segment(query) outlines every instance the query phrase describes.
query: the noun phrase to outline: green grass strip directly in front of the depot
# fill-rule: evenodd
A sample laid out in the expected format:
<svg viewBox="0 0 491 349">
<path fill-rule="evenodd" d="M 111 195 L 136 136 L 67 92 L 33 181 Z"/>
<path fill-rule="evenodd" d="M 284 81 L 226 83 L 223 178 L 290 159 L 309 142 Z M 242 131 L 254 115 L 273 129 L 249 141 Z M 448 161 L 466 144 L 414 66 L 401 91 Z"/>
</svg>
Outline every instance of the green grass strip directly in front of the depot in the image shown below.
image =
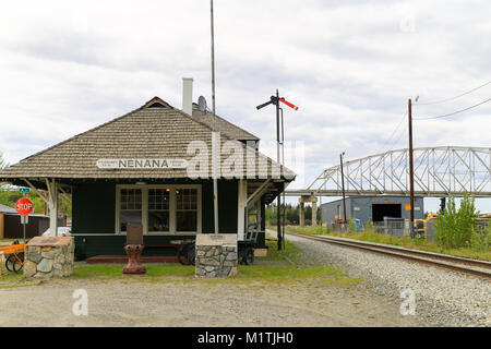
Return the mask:
<svg viewBox="0 0 491 349">
<path fill-rule="evenodd" d="M 268 239 L 266 257 L 256 257 L 254 265 L 239 265 L 239 273 L 230 278 L 203 279 L 194 277 L 194 266 L 180 264 L 147 264 L 146 275 L 122 275 L 122 265 L 75 265 L 70 279 L 128 280 L 148 282 L 197 282 L 197 284 L 228 284 L 239 282 L 260 288 L 279 287 L 280 285 L 351 285 L 361 279 L 348 278 L 338 269 L 313 262 L 302 250 L 286 241 L 286 249 L 277 251 L 277 241 Z M 22 274 L 10 273 L 0 276 L 0 288 L 27 286 L 27 279 Z"/>
</svg>

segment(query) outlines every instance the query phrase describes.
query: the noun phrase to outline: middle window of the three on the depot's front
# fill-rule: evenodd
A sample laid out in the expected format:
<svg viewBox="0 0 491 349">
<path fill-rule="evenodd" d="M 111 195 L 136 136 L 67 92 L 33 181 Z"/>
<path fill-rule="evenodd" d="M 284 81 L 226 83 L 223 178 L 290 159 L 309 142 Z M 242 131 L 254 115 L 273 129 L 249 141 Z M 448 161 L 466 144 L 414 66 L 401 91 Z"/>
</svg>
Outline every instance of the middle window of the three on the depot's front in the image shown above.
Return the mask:
<svg viewBox="0 0 491 349">
<path fill-rule="evenodd" d="M 169 231 L 170 189 L 148 189 L 148 231 Z"/>
</svg>

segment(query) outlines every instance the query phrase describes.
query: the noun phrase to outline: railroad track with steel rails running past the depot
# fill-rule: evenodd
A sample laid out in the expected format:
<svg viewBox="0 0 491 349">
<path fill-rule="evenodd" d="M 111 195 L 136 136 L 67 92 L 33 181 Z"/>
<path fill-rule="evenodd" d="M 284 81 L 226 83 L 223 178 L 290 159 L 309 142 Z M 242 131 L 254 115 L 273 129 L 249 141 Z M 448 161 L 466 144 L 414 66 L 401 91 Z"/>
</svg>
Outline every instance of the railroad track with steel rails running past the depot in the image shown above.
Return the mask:
<svg viewBox="0 0 491 349">
<path fill-rule="evenodd" d="M 475 276 L 491 279 L 491 262 L 457 257 L 441 253 L 427 252 L 420 250 L 405 249 L 395 245 L 387 245 L 375 242 L 367 242 L 360 240 L 351 240 L 345 238 L 325 237 L 325 236 L 311 236 L 304 233 L 298 233 L 292 231 L 285 231 L 287 234 L 321 241 L 325 243 L 333 243 L 347 248 L 354 248 L 363 250 L 367 252 L 380 253 L 390 255 L 393 257 L 399 257 L 409 260 L 412 262 L 427 263 L 434 266 L 452 269 L 465 274 L 471 274 Z"/>
</svg>

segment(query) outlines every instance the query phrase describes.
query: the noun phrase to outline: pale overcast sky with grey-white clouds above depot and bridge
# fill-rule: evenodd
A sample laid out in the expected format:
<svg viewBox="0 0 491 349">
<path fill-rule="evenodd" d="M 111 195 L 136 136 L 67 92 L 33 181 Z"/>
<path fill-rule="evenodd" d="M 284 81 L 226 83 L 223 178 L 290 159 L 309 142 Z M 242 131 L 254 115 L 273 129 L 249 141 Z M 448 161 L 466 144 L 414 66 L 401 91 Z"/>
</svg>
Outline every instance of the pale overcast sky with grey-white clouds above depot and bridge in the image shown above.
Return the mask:
<svg viewBox="0 0 491 349">
<path fill-rule="evenodd" d="M 255 106 L 279 88 L 300 107 L 285 109 L 286 139 L 304 146 L 295 186 L 306 186 L 342 152 L 406 147 L 408 98 L 440 100 L 490 81 L 489 13 L 484 0 L 215 0 L 217 113 L 267 146 L 274 109 Z M 194 77 L 195 99 L 211 101 L 207 0 L 2 3 L 0 152 L 16 163 L 156 95 L 180 107 L 183 76 Z M 414 115 L 489 97 L 491 84 Z M 490 112 L 491 103 L 415 121 L 415 147 L 489 147 Z"/>
</svg>

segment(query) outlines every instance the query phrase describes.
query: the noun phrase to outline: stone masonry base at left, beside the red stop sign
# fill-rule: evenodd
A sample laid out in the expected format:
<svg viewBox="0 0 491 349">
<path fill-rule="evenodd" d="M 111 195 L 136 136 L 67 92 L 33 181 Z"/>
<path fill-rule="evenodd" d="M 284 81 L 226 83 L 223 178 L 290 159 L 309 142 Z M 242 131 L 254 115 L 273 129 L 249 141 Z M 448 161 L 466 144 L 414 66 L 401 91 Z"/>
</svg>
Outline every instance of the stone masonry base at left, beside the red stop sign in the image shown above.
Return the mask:
<svg viewBox="0 0 491 349">
<path fill-rule="evenodd" d="M 70 237 L 36 237 L 25 248 L 26 277 L 67 277 L 73 273 L 75 243 Z"/>
</svg>

